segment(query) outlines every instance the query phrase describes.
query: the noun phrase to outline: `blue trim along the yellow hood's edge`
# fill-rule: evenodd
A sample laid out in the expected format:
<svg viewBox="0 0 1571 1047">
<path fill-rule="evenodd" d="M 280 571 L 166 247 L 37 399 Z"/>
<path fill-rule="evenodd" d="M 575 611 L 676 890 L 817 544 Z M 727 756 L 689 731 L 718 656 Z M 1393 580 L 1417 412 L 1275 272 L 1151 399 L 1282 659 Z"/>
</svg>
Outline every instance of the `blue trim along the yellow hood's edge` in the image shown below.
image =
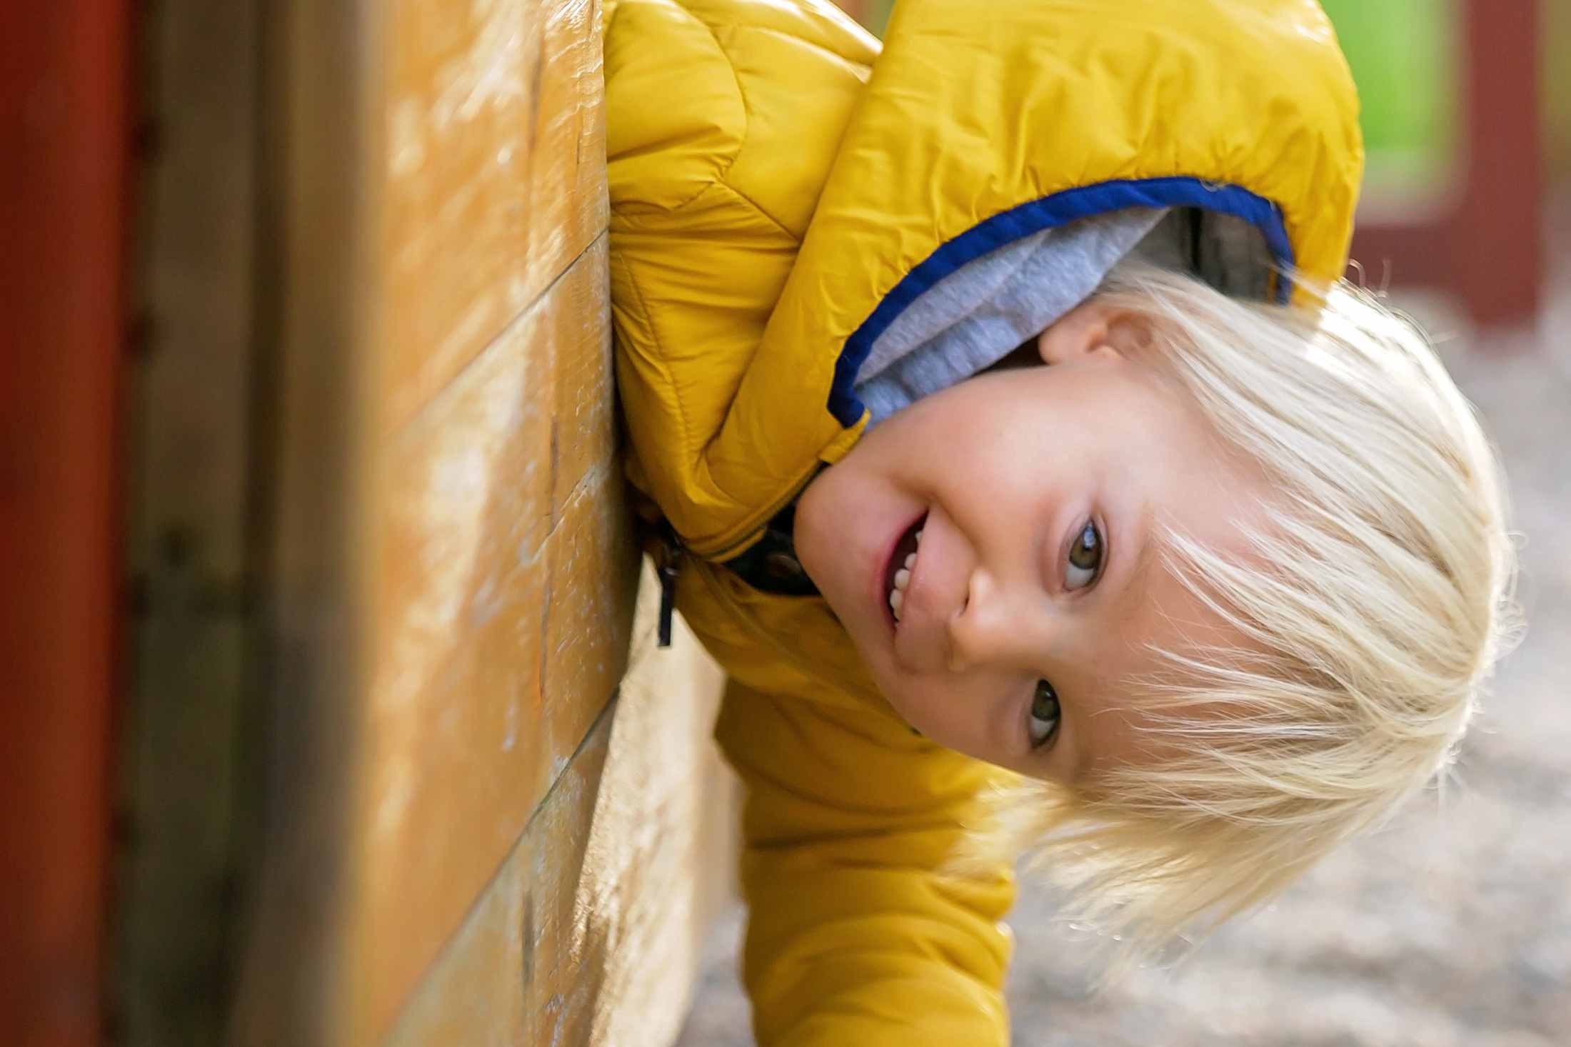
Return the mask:
<svg viewBox="0 0 1571 1047">
<path fill-rule="evenodd" d="M 1277 265 L 1284 268 L 1293 265 L 1293 243 L 1282 223 L 1282 210 L 1265 196 L 1257 196 L 1240 185 L 1218 185 L 1197 177 L 1122 179 L 1067 188 L 1062 193 L 1032 199 L 993 215 L 944 243 L 884 295 L 872 316 L 862 320 L 862 325 L 845 339 L 845 345 L 840 348 L 840 358 L 834 363 L 834 385 L 829 386 L 829 413 L 847 429 L 861 419 L 864 408 L 855 385 L 862 361 L 867 359 L 873 344 L 905 312 L 906 306 L 941 279 L 968 262 L 1021 237 L 1123 207 L 1200 207 L 1236 215 L 1260 229 Z M 1291 294 L 1291 284 L 1282 279 L 1277 287 L 1279 298 L 1285 303 Z"/>
</svg>

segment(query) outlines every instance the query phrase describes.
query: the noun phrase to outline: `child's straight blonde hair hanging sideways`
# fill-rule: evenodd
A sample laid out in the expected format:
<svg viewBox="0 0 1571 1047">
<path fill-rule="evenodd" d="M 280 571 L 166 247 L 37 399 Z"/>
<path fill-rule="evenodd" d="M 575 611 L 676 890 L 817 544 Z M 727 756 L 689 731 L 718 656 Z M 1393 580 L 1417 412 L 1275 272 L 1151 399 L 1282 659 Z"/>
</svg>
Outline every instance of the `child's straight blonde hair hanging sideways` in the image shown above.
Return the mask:
<svg viewBox="0 0 1571 1047">
<path fill-rule="evenodd" d="M 1346 284 L 1318 297 L 1254 305 L 1148 267 L 1100 292 L 1276 490 L 1247 556 L 1164 532 L 1164 567 L 1246 639 L 1159 650 L 1130 681 L 1166 755 L 996 805 L 1005 846 L 1115 942 L 1109 969 L 1271 899 L 1444 775 L 1513 631 L 1472 408 L 1414 323 Z"/>
</svg>

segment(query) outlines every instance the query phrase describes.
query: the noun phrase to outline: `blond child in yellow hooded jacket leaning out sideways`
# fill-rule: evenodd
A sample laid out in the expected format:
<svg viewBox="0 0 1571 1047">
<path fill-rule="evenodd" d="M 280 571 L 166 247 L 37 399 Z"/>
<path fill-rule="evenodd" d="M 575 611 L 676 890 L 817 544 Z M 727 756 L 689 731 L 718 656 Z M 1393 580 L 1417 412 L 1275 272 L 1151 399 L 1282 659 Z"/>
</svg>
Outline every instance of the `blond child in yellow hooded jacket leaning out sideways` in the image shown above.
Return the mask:
<svg viewBox="0 0 1571 1047">
<path fill-rule="evenodd" d="M 1316 292 L 1362 151 L 1312 0 L 606 27 L 628 474 L 731 677 L 760 1044 L 1002 1044 L 1010 846 L 1155 947 L 1445 766 L 1502 496 L 1422 337 Z"/>
</svg>

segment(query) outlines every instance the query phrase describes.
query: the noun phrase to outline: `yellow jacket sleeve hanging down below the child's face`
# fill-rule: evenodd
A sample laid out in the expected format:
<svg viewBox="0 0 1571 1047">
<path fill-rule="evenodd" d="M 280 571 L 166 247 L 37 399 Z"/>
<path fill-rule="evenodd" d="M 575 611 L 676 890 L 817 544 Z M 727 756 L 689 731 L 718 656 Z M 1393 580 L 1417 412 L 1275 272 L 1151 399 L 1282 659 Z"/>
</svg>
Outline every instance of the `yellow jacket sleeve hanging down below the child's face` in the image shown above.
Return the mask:
<svg viewBox="0 0 1571 1047">
<path fill-rule="evenodd" d="M 875 711 L 731 683 L 743 980 L 760 1047 L 1009 1042 L 1010 870 L 941 871 L 998 772 Z"/>
</svg>

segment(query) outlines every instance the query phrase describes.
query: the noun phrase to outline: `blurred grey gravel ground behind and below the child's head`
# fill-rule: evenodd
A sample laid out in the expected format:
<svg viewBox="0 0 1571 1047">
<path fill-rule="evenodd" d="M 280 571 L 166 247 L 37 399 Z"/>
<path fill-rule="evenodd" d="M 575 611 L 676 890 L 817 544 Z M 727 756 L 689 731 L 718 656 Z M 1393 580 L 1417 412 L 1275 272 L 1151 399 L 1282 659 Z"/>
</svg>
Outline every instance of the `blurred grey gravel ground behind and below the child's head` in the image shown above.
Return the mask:
<svg viewBox="0 0 1571 1047">
<path fill-rule="evenodd" d="M 1536 337 L 1444 347 L 1511 479 L 1524 644 L 1500 669 L 1459 788 L 1334 855 L 1174 972 L 1087 990 L 1082 951 L 1026 887 L 1010 915 L 1018 1047 L 1571 1044 L 1571 279 Z M 1406 303 L 1431 331 L 1434 303 Z M 1461 345 L 1475 341 L 1475 352 Z M 751 1042 L 737 983 L 742 917 L 712 936 L 679 1047 Z"/>
</svg>

